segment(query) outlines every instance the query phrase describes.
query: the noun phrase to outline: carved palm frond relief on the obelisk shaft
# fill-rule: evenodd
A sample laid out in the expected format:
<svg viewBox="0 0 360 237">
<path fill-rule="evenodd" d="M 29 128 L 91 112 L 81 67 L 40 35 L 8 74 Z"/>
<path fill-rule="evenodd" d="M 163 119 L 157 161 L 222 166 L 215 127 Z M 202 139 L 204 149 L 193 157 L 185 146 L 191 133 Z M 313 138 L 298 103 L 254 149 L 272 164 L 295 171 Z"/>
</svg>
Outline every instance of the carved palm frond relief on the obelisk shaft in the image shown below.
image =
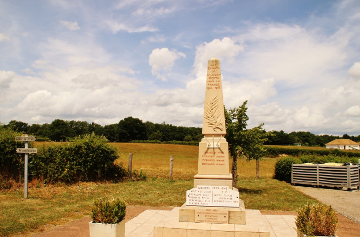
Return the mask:
<svg viewBox="0 0 360 237">
<path fill-rule="evenodd" d="M 212 127 L 214 131 L 216 131 L 216 129 L 220 129 L 220 131 L 225 130 L 221 123 L 221 113 L 217 95 L 205 104 L 205 118 L 207 119 L 207 125 Z"/>
</svg>

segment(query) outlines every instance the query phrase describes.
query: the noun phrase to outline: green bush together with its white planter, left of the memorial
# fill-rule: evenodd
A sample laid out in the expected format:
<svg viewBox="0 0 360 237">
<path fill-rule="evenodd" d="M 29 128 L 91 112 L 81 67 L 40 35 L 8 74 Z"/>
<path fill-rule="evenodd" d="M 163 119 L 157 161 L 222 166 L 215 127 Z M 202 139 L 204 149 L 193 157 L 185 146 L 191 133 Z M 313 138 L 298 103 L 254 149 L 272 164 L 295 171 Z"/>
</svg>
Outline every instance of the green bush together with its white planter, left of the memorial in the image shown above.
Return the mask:
<svg viewBox="0 0 360 237">
<path fill-rule="evenodd" d="M 94 200 L 89 223 L 90 237 L 125 237 L 126 205 L 111 196 Z"/>
</svg>

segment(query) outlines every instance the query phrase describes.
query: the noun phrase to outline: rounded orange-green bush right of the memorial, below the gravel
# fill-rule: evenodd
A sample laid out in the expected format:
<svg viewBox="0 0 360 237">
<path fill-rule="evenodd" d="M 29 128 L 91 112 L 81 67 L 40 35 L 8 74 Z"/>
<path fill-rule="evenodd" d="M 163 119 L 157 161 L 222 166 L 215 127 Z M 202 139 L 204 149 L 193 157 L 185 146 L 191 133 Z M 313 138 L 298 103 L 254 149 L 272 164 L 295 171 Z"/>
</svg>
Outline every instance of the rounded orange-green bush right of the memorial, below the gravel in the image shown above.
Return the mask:
<svg viewBox="0 0 360 237">
<path fill-rule="evenodd" d="M 335 210 L 325 204 L 306 204 L 297 209 L 295 225 L 299 237 L 336 237 L 338 218 Z"/>
</svg>

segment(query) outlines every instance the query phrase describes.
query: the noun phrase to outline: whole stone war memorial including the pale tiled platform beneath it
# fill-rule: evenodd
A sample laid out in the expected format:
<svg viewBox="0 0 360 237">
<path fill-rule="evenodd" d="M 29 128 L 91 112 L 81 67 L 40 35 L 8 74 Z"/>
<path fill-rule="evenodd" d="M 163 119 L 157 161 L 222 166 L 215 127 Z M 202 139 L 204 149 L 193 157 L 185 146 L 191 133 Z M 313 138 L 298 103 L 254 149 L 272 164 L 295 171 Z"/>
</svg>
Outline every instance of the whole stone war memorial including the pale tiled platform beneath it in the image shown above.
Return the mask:
<svg viewBox="0 0 360 237">
<path fill-rule="evenodd" d="M 259 210 L 246 210 L 232 186 L 220 61 L 208 61 L 198 173 L 186 203 L 154 227 L 154 237 L 270 237 Z"/>
</svg>

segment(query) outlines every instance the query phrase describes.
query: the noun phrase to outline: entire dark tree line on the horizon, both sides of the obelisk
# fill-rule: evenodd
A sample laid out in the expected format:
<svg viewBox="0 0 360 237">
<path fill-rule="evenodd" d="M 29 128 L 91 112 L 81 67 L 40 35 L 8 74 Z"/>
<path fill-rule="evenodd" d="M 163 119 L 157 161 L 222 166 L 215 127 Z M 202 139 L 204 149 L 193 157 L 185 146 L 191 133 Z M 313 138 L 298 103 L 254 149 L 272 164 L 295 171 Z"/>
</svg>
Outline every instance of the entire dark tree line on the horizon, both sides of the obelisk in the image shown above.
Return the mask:
<svg viewBox="0 0 360 237">
<path fill-rule="evenodd" d="M 134 140 L 158 140 L 168 141 L 195 141 L 200 142 L 202 128 L 174 126 L 168 123 L 143 122 L 139 118 L 127 117 L 118 123 L 102 126 L 98 123 L 87 121 L 55 119 L 51 123 L 29 125 L 26 122 L 11 120 L 8 124 L 1 126 L 11 128 L 17 132 L 32 134 L 37 141 L 65 141 L 85 134 L 104 135 L 110 142 L 131 142 Z M 265 132 L 265 130 L 264 130 Z M 360 142 L 359 136 L 315 135 L 311 132 L 290 132 L 271 131 L 268 133 L 265 145 L 288 146 L 300 143 L 302 146 L 324 147 L 335 139 L 351 139 Z"/>
</svg>

